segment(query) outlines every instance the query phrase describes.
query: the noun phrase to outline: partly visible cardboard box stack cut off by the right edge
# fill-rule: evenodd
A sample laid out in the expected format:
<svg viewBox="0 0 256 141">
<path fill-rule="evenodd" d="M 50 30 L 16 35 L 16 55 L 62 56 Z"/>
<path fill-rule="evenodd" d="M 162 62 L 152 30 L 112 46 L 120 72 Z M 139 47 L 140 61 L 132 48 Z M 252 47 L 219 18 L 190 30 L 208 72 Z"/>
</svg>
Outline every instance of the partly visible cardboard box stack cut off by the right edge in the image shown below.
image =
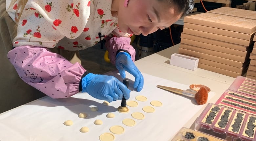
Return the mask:
<svg viewBox="0 0 256 141">
<path fill-rule="evenodd" d="M 253 38 L 254 45 L 250 54 L 250 65 L 246 73 L 246 77 L 256 79 L 256 35 Z"/>
</svg>

